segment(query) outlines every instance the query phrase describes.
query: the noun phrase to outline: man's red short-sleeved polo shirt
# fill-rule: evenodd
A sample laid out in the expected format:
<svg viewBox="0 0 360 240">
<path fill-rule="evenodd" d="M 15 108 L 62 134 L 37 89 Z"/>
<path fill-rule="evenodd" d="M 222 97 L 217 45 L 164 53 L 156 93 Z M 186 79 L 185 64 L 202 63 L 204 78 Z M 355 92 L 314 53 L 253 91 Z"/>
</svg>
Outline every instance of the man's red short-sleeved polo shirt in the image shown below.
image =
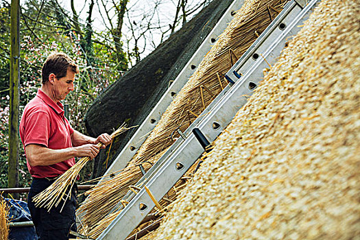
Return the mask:
<svg viewBox="0 0 360 240">
<path fill-rule="evenodd" d="M 72 147 L 73 128 L 64 117 L 64 106 L 57 104 L 40 89 L 36 97 L 25 106 L 20 121 L 20 137 L 26 145 L 38 144 L 50 149 Z M 25 152 L 26 154 L 26 152 Z M 75 158 L 49 166 L 30 166 L 30 174 L 36 178 L 52 178 L 61 175 L 75 164 Z"/>
</svg>

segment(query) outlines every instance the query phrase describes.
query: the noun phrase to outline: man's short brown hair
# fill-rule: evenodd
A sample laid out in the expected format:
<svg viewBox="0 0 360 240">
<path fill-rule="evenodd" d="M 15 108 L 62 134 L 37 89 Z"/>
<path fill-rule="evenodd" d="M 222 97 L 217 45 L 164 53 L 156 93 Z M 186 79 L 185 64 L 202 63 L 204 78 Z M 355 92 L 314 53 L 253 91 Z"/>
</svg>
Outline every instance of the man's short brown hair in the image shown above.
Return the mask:
<svg viewBox="0 0 360 240">
<path fill-rule="evenodd" d="M 41 69 L 41 77 L 43 84 L 49 81 L 49 75 L 55 74 L 57 78 L 65 77 L 67 69 L 74 73 L 79 73 L 79 67 L 65 53 L 51 53 L 44 62 Z"/>
</svg>

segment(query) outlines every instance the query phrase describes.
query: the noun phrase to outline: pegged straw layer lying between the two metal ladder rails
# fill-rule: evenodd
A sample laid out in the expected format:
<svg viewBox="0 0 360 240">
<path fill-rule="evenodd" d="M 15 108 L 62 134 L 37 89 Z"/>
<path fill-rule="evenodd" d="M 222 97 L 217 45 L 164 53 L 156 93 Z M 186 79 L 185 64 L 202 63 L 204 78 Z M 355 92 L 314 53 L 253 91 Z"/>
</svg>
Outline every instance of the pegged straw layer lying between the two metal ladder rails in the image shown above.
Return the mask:
<svg viewBox="0 0 360 240">
<path fill-rule="evenodd" d="M 254 43 L 259 34 L 274 20 L 287 3 L 284 0 L 248 0 L 225 32 L 209 51 L 189 82 L 178 93 L 158 125 L 124 169 L 108 182 L 101 182 L 89 191 L 88 200 L 80 206 L 85 213 L 84 224 L 93 228 L 128 192 L 129 184 L 136 184 L 142 176 L 139 163 L 150 163 L 162 155 L 172 143 L 171 133 L 180 126 L 184 132 L 197 115 L 213 101 L 226 85 L 224 75 L 236 60 Z M 144 165 L 145 170 L 149 165 Z M 131 182 L 131 183 L 130 183 Z"/>
</svg>

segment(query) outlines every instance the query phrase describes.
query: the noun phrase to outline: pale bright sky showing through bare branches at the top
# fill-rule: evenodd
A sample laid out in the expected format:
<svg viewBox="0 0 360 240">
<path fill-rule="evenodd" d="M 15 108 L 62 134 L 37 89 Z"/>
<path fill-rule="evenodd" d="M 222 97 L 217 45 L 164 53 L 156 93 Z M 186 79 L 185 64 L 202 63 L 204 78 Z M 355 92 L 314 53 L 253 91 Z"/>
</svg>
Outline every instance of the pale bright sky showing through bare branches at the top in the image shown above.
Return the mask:
<svg viewBox="0 0 360 240">
<path fill-rule="evenodd" d="M 108 8 L 113 5 L 112 0 L 103 1 L 106 3 Z M 71 1 L 58 0 L 58 2 L 71 15 Z M 75 10 L 80 16 L 81 23 L 85 23 L 84 19 L 86 19 L 88 5 L 90 2 L 90 0 L 75 0 Z M 189 8 L 192 8 L 200 2 L 202 2 L 202 0 L 187 0 Z M 143 38 L 139 38 L 138 46 L 140 51 L 143 51 L 141 58 L 145 58 L 145 56 L 151 53 L 160 44 L 162 35 L 161 31 L 165 32 L 169 29 L 169 24 L 173 23 L 177 4 L 178 0 L 130 0 L 127 5 L 129 14 L 128 16 L 125 16 L 123 24 L 124 48 L 129 47 L 132 49 L 134 47 L 134 37 L 139 38 L 139 35 L 143 31 L 143 26 L 145 24 L 147 25 L 148 22 L 154 28 L 160 25 L 162 26 L 161 29 L 152 29 L 152 32 L 147 32 Z M 194 16 L 197 12 L 199 11 L 197 10 L 194 12 L 192 16 Z M 110 17 L 113 19 L 112 22 L 113 24 L 116 24 L 116 16 L 114 15 L 115 11 L 110 11 Z M 191 19 L 192 16 L 190 16 L 189 19 Z M 130 31 L 130 23 L 135 28 L 135 36 L 132 36 L 132 32 Z M 106 30 L 106 26 L 109 26 L 109 23 L 106 19 L 104 7 L 101 5 L 101 0 L 95 0 L 93 8 L 93 29 L 96 32 L 101 32 Z M 179 28 L 180 26 L 177 27 L 177 29 Z M 169 36 L 169 33 L 170 32 L 167 33 L 167 36 Z M 130 41 L 127 39 L 130 39 Z"/>
</svg>

